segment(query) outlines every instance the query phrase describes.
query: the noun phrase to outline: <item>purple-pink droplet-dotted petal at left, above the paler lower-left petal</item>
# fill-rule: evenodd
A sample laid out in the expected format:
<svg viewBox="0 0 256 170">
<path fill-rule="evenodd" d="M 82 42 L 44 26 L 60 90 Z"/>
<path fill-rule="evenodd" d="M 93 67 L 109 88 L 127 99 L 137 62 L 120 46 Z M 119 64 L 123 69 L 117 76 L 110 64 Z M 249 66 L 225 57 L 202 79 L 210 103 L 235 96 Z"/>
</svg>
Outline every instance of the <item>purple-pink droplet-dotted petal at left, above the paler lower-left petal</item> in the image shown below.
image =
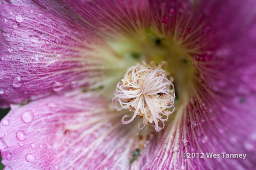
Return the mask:
<svg viewBox="0 0 256 170">
<path fill-rule="evenodd" d="M 0 9 L 0 106 L 88 88 L 108 73 L 104 64 L 115 55 L 79 23 L 38 8 Z"/>
</svg>

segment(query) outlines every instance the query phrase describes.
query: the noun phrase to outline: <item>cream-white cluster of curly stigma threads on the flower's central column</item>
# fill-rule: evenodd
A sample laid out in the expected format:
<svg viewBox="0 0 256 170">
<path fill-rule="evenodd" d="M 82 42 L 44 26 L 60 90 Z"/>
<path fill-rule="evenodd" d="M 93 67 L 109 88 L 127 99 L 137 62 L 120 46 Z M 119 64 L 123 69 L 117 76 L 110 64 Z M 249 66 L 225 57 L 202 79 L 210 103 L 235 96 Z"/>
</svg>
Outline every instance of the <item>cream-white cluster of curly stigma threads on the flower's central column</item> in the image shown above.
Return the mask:
<svg viewBox="0 0 256 170">
<path fill-rule="evenodd" d="M 122 117 L 123 124 L 132 122 L 138 115 L 139 129 L 143 129 L 145 125 L 154 126 L 157 132 L 164 129 L 164 121 L 168 120 L 168 116 L 175 109 L 173 78 L 162 69 L 165 65 L 165 62 L 137 64 L 129 68 L 122 82 L 117 84 L 112 104 L 118 111 L 129 109 L 131 112 L 130 115 Z M 125 120 L 127 117 L 128 120 Z"/>
</svg>

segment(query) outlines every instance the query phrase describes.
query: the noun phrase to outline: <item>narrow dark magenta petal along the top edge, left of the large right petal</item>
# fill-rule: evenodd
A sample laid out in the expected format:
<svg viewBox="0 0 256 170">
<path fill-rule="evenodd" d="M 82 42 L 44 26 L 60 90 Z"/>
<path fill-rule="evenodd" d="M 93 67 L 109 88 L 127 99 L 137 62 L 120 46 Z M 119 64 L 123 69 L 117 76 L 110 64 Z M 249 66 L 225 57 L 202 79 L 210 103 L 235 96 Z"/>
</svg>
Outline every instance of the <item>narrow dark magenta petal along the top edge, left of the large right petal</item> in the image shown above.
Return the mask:
<svg viewBox="0 0 256 170">
<path fill-rule="evenodd" d="M 150 27 L 150 10 L 147 0 L 19 0 L 19 6 L 38 6 L 64 18 L 80 22 L 104 38 L 134 35 Z"/>
</svg>

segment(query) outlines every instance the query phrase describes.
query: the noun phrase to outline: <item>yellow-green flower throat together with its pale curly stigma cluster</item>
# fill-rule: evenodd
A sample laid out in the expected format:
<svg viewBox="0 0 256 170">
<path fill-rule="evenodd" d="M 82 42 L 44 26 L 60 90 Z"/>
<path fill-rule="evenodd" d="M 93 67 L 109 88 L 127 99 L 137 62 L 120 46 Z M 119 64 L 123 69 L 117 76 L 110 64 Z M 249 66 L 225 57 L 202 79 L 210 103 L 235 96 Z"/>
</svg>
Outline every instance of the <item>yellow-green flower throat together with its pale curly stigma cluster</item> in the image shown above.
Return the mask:
<svg viewBox="0 0 256 170">
<path fill-rule="evenodd" d="M 138 115 L 140 119 L 143 118 L 143 125 L 139 121 L 139 129 L 143 129 L 145 125 L 152 125 L 156 131 L 160 131 L 164 127 L 164 122 L 167 123 L 167 119 L 172 121 L 174 117 L 182 115 L 177 112 L 178 109 L 176 109 L 177 114 L 170 115 L 173 110 L 169 107 L 184 108 L 196 90 L 194 85 L 199 77 L 191 57 L 196 54 L 196 49 L 188 48 L 182 42 L 180 37 L 166 36 L 154 27 L 140 31 L 134 36 L 108 41 L 119 57 L 116 61 L 110 62 L 110 65 L 118 69 L 113 69 L 112 75 L 96 86 L 104 87 L 101 94 L 107 98 L 115 93 L 113 104 L 116 109 L 123 110 L 124 114 L 125 110 L 132 112 L 122 118 L 124 124 L 130 123 Z M 146 63 L 154 61 L 158 65 L 153 63 L 147 65 L 142 61 Z M 167 63 L 165 68 L 162 68 L 165 66 L 162 61 Z M 134 63 L 142 64 L 132 66 L 135 65 Z M 173 78 L 169 77 L 168 72 L 172 73 Z M 150 75 L 152 75 L 151 79 L 149 79 Z M 114 90 L 117 83 L 118 86 Z M 154 94 L 150 94 L 147 89 L 152 88 L 154 84 L 158 84 L 155 87 L 159 88 L 155 88 L 155 91 L 152 91 Z M 173 86 L 175 86 L 175 96 Z M 158 93 L 158 90 L 166 90 L 166 93 Z M 170 91 L 167 92 L 168 90 Z M 174 106 L 172 106 L 173 102 Z"/>
</svg>

